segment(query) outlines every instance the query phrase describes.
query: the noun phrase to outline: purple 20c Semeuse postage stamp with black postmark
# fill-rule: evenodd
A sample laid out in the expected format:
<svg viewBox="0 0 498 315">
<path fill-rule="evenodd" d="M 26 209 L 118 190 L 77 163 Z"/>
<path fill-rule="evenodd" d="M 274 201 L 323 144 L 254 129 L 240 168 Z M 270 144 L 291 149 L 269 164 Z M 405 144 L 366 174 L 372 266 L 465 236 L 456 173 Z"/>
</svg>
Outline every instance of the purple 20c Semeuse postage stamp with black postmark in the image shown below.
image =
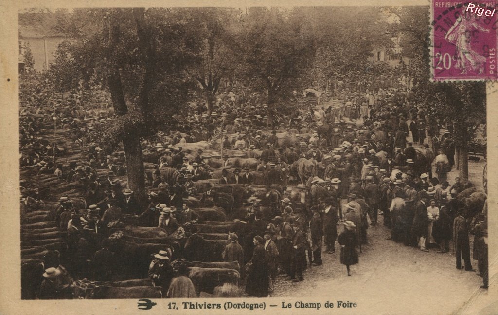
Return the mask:
<svg viewBox="0 0 498 315">
<path fill-rule="evenodd" d="M 497 0 L 432 0 L 433 81 L 496 80 Z"/>
</svg>

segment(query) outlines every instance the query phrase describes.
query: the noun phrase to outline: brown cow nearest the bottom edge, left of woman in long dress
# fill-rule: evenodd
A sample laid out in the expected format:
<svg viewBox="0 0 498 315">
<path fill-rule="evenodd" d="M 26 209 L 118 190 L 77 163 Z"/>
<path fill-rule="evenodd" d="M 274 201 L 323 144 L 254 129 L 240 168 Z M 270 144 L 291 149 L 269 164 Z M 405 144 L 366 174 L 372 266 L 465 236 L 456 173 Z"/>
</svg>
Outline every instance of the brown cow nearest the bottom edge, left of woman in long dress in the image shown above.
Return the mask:
<svg viewBox="0 0 498 315">
<path fill-rule="evenodd" d="M 239 284 L 240 274 L 234 269 L 191 267 L 188 271 L 188 277 L 198 292 L 212 293 L 215 287 L 225 283 Z"/>
</svg>

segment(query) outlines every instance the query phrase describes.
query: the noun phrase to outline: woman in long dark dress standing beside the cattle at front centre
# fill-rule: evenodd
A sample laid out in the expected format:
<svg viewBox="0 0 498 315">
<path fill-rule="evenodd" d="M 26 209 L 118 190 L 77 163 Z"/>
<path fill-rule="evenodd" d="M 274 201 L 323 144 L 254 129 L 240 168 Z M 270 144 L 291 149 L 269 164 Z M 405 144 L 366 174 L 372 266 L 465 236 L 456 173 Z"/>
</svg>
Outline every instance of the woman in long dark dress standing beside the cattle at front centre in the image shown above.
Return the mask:
<svg viewBox="0 0 498 315">
<path fill-rule="evenodd" d="M 256 235 L 253 239 L 254 251 L 250 260 L 246 293 L 251 297 L 264 298 L 268 296 L 268 269 L 264 262 L 264 240 Z"/>
</svg>

